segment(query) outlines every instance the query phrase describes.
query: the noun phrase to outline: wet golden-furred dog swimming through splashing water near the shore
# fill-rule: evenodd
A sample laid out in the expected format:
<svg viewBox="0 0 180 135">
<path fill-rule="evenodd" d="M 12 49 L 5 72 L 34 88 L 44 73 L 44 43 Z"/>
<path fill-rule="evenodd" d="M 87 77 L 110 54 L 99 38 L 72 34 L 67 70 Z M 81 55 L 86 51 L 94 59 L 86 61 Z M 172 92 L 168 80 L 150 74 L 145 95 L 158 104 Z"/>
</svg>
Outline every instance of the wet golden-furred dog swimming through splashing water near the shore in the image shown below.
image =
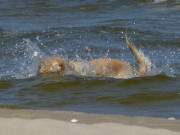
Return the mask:
<svg viewBox="0 0 180 135">
<path fill-rule="evenodd" d="M 83 61 L 66 61 L 65 59 L 57 56 L 48 57 L 40 62 L 39 73 L 61 73 L 65 74 L 67 71 L 72 71 L 79 75 L 83 71 L 91 72 L 92 75 L 98 77 L 113 77 L 113 78 L 131 78 L 134 76 L 145 76 L 151 68 L 151 61 L 145 57 L 142 51 L 139 51 L 135 45 L 125 36 L 126 44 L 131 53 L 135 57 L 138 69 L 134 70 L 129 62 L 111 59 L 111 58 L 98 58 L 90 60 L 86 63 L 87 66 L 83 67 Z"/>
</svg>

